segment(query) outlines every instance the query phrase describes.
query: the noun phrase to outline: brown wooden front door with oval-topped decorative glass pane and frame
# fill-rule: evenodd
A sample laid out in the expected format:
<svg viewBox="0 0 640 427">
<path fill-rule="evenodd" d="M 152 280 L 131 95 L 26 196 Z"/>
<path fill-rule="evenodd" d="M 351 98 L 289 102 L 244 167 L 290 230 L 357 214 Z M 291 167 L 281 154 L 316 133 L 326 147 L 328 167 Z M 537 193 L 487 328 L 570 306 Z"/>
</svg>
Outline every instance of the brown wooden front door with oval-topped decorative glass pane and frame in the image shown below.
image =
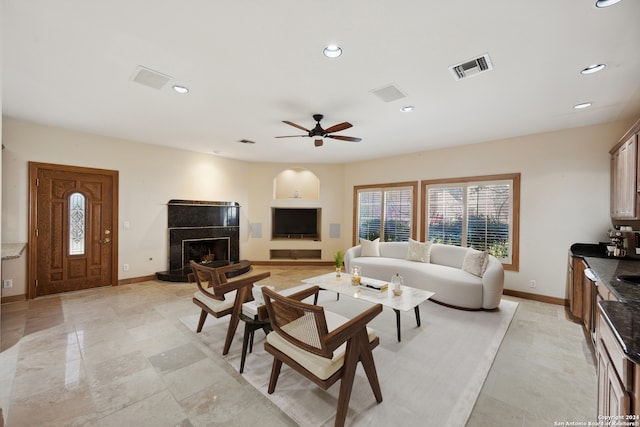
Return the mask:
<svg viewBox="0 0 640 427">
<path fill-rule="evenodd" d="M 29 298 L 117 284 L 118 172 L 29 163 Z"/>
</svg>

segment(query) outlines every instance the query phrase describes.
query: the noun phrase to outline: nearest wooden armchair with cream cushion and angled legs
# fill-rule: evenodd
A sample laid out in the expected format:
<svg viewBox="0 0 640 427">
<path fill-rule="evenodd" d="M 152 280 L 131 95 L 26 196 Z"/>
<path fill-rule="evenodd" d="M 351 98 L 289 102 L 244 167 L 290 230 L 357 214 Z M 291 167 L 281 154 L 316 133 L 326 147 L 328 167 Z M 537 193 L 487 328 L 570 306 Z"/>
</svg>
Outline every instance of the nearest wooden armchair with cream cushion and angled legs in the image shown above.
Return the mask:
<svg viewBox="0 0 640 427">
<path fill-rule="evenodd" d="M 382 402 L 372 354 L 380 340 L 373 329 L 367 328 L 367 323 L 382 312 L 382 305 L 376 304 L 347 319 L 321 306 L 302 302 L 318 291 L 318 286 L 313 286 L 283 296 L 262 288 L 273 328 L 264 344 L 265 350 L 273 355 L 268 392 L 274 392 L 283 362 L 324 390 L 342 379 L 335 425 L 343 426 L 358 362 L 362 362 L 376 401 Z"/>
</svg>

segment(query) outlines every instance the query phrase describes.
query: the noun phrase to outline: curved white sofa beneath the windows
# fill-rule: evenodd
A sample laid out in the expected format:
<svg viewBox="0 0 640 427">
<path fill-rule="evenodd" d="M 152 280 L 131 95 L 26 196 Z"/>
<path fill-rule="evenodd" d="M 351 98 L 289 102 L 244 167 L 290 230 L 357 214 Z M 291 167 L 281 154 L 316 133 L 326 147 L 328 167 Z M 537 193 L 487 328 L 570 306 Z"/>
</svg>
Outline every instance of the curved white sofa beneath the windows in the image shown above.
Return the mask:
<svg viewBox="0 0 640 427">
<path fill-rule="evenodd" d="M 473 249 L 434 243 L 430 262 L 408 260 L 409 242 L 380 242 L 378 249 L 380 256 L 361 256 L 360 245 L 347 249 L 346 271 L 357 265 L 363 277 L 386 281 L 399 273 L 405 285 L 435 292 L 432 300 L 457 308 L 489 310 L 500 304 L 504 269 L 491 255 L 479 277 L 462 269 L 465 256 Z"/>
</svg>

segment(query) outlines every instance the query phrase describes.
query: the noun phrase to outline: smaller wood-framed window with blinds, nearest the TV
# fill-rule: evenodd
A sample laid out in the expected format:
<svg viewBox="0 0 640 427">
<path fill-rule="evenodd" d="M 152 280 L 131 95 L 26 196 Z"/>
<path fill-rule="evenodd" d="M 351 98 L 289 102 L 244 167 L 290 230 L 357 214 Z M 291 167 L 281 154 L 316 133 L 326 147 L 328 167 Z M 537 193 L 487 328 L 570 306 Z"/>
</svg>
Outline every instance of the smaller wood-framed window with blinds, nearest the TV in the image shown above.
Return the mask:
<svg viewBox="0 0 640 427">
<path fill-rule="evenodd" d="M 354 244 L 403 242 L 415 237 L 417 182 L 354 187 Z"/>
</svg>

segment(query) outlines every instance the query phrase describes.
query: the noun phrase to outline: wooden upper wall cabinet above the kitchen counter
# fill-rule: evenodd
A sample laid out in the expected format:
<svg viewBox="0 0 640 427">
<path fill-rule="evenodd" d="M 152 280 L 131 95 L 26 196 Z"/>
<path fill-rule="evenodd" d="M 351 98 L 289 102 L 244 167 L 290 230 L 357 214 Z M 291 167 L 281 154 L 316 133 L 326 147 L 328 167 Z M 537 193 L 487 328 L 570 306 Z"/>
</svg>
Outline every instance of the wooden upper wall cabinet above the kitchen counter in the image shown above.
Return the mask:
<svg viewBox="0 0 640 427">
<path fill-rule="evenodd" d="M 611 151 L 611 217 L 640 219 L 640 162 L 638 134 L 640 120 L 622 137 Z"/>
</svg>

